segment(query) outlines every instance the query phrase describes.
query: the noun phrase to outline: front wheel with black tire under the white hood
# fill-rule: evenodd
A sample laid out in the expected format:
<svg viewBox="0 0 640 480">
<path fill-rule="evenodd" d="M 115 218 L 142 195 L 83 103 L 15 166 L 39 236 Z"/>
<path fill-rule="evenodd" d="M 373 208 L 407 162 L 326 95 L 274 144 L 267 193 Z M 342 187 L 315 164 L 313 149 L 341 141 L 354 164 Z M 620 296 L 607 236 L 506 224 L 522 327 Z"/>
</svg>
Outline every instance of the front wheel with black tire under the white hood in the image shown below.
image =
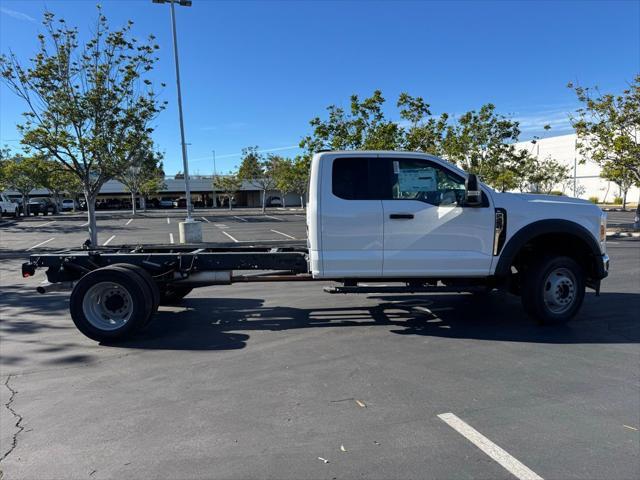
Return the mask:
<svg viewBox="0 0 640 480">
<path fill-rule="evenodd" d="M 523 275 L 522 306 L 545 324 L 569 321 L 584 300 L 585 274 L 570 257 L 544 257 Z"/>
</svg>

